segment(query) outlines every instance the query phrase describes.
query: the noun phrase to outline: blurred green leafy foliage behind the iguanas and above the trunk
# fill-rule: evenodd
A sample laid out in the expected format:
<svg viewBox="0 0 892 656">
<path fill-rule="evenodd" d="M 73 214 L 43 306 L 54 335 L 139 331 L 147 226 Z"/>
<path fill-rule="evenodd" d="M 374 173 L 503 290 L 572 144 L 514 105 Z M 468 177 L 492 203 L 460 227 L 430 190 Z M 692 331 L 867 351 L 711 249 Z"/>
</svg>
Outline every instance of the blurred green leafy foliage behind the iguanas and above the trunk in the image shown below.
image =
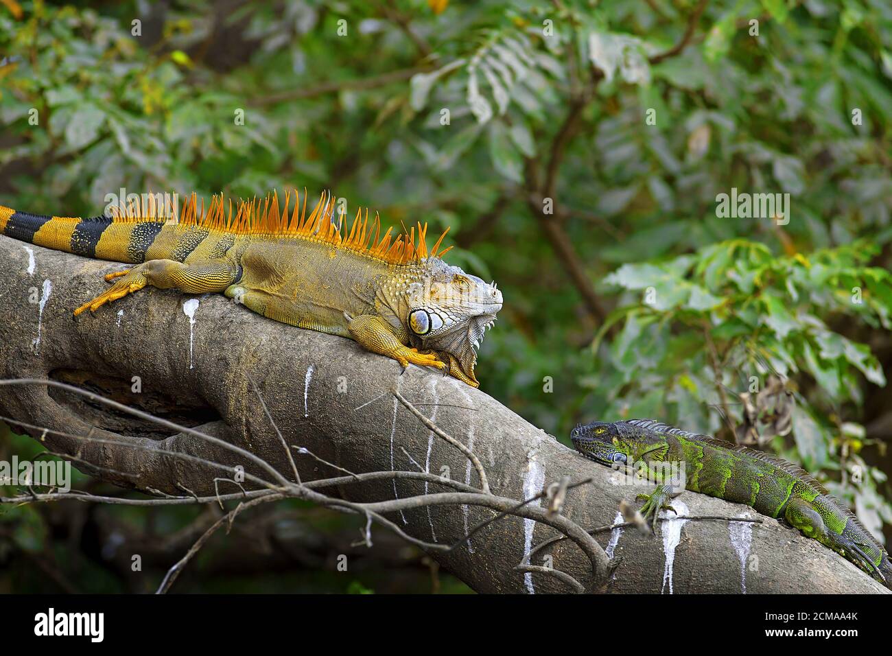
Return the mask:
<svg viewBox="0 0 892 656">
<path fill-rule="evenodd" d="M 780 374 L 773 448 L 892 523 L 865 428 L 892 401 L 885 0 L 10 4 L 4 203 L 293 185 L 450 227 L 450 262 L 506 299 L 485 391 L 562 439 L 647 416 L 732 437 L 738 394 Z M 606 320 L 533 212 L 552 163 Z M 789 222 L 723 217 L 732 188 L 789 194 Z"/>
</svg>

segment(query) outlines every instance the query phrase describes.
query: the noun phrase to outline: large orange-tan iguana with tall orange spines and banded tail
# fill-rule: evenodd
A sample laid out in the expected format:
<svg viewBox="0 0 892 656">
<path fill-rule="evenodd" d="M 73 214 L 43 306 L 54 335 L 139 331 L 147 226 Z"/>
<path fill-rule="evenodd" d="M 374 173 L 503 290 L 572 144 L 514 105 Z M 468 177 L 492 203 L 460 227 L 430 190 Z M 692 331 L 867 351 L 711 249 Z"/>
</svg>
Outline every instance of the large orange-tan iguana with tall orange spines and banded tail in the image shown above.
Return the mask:
<svg viewBox="0 0 892 656">
<path fill-rule="evenodd" d="M 214 196 L 207 212 L 193 194 L 183 211 L 147 195 L 92 219 L 40 216 L 0 205 L 0 234 L 31 244 L 136 266 L 105 276 L 108 290 L 74 311 L 147 285 L 186 294 L 222 292 L 283 323 L 351 337 L 368 351 L 446 370 L 470 386 L 476 349 L 502 306 L 495 284 L 468 275 L 427 249 L 427 226 L 392 238 L 357 212 L 350 231 L 335 198 L 323 194 L 307 214 L 294 192 L 236 204 Z"/>
</svg>

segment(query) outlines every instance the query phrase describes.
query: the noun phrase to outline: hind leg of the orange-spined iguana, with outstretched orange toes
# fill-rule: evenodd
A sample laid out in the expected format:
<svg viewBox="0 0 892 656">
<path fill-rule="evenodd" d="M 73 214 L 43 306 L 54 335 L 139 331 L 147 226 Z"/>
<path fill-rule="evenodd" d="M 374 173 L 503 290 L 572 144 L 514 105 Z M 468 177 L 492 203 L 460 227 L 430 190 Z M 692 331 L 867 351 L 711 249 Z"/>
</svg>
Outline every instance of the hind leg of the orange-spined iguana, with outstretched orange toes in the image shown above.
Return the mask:
<svg viewBox="0 0 892 656">
<path fill-rule="evenodd" d="M 96 311 L 105 303 L 117 301 L 146 285 L 160 289 L 177 288 L 186 294 L 222 292 L 235 282 L 237 276 L 238 266 L 228 260 L 203 260 L 189 264 L 174 260 L 150 260 L 137 264 L 132 269 L 116 271 L 105 276 L 106 282 L 120 279 L 105 293 L 81 305 L 74 314 L 77 316 L 83 311 Z"/>
</svg>

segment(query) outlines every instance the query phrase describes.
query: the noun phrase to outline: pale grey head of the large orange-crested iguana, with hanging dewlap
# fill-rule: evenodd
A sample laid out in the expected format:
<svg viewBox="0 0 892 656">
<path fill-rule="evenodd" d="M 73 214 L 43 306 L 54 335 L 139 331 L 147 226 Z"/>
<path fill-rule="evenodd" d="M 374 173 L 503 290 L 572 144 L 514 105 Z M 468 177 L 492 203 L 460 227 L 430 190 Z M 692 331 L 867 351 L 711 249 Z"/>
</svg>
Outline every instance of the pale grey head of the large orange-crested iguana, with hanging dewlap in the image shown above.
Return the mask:
<svg viewBox="0 0 892 656">
<path fill-rule="evenodd" d="M 422 270 L 406 286 L 400 320 L 413 345 L 443 354 L 450 374 L 476 387 L 477 349 L 501 310 L 501 292 L 439 258 L 428 258 Z"/>
</svg>

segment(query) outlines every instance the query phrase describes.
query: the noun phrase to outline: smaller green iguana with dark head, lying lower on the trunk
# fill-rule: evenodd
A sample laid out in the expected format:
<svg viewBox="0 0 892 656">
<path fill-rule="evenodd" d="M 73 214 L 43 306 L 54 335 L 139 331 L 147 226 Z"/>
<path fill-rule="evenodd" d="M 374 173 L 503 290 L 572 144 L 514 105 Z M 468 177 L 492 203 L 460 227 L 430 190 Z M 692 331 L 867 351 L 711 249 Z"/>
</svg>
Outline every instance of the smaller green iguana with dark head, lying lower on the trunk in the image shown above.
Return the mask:
<svg viewBox="0 0 892 656">
<path fill-rule="evenodd" d="M 842 502 L 797 465 L 654 419 L 593 421 L 574 428 L 570 439 L 582 455 L 601 464 L 641 463 L 657 481 L 654 493 L 639 495 L 645 499 L 645 519 L 656 522 L 661 508 L 673 510 L 668 500 L 684 489 L 745 503 L 763 515 L 786 519 L 892 589 L 888 553 Z M 673 463 L 679 466 L 666 466 Z M 676 478 L 667 480 L 672 473 Z"/>
</svg>

